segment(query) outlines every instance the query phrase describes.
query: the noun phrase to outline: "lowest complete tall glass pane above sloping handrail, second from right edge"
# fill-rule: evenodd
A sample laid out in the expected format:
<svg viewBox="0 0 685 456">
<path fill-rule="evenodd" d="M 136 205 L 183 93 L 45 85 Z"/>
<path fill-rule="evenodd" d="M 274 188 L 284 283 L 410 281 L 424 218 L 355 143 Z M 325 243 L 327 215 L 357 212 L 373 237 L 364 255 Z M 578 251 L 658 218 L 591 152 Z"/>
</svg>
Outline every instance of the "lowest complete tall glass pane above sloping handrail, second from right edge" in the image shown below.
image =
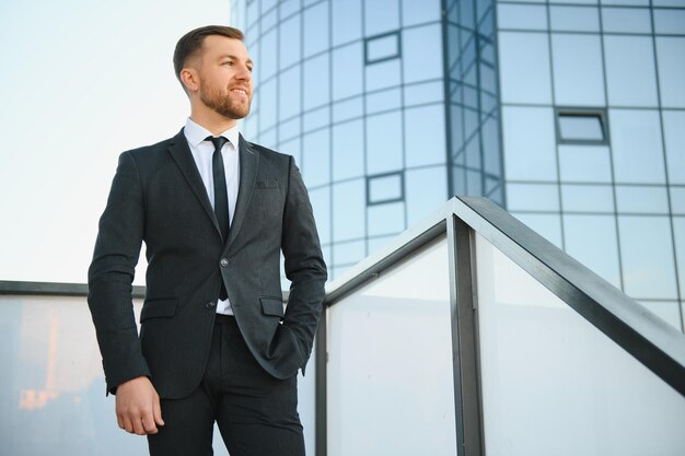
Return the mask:
<svg viewBox="0 0 685 456">
<path fill-rule="evenodd" d="M 666 217 L 618 217 L 624 292 L 640 299 L 677 299 L 671 223 Z"/>
</svg>

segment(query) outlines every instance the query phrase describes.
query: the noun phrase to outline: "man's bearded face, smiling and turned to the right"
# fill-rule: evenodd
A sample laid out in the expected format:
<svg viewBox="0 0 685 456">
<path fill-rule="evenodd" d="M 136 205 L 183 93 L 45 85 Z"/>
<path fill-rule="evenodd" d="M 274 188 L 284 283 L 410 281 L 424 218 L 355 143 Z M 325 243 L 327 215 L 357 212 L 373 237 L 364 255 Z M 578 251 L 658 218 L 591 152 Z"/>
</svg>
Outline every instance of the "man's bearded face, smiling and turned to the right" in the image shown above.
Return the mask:
<svg viewBox="0 0 685 456">
<path fill-rule="evenodd" d="M 207 36 L 198 62 L 199 98 L 230 119 L 242 119 L 252 103 L 252 60 L 240 39 Z"/>
</svg>

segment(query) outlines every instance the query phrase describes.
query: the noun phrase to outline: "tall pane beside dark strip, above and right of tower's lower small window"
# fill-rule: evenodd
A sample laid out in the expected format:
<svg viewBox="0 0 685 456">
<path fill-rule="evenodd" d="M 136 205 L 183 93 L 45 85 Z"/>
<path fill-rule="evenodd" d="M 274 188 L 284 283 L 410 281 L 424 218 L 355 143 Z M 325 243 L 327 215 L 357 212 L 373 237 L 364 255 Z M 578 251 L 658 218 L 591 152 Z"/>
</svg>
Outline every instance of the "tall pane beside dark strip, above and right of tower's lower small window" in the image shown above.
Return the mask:
<svg viewBox="0 0 685 456">
<path fill-rule="evenodd" d="M 405 125 L 407 167 L 445 163 L 444 106 L 406 109 Z"/>
</svg>

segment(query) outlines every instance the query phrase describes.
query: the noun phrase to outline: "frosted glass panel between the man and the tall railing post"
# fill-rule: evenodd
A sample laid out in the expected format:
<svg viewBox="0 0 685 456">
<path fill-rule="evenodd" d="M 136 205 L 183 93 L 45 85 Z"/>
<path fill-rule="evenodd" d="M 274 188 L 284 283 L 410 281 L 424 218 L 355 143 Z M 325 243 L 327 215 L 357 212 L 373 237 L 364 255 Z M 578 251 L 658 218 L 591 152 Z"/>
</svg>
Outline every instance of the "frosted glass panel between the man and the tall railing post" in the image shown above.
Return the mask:
<svg viewBox="0 0 685 456">
<path fill-rule="evenodd" d="M 328 312 L 328 455 L 455 455 L 446 239 Z"/>
</svg>

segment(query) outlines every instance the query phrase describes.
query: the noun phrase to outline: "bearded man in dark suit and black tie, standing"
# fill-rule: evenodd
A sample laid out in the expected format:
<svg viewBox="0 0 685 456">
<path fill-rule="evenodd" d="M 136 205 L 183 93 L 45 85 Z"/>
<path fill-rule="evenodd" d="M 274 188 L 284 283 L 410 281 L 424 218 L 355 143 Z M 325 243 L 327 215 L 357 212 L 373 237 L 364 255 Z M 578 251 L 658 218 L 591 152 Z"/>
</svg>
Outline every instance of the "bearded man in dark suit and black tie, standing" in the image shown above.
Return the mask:
<svg viewBox="0 0 685 456">
<path fill-rule="evenodd" d="M 120 155 L 89 269 L 107 391 L 119 428 L 147 434 L 153 456 L 211 455 L 214 421 L 232 456 L 303 455 L 297 372 L 326 281 L 306 189 L 291 156 L 237 131 L 253 94 L 242 32 L 189 32 L 174 67 L 190 118 Z M 139 337 L 131 282 L 143 241 Z"/>
</svg>

